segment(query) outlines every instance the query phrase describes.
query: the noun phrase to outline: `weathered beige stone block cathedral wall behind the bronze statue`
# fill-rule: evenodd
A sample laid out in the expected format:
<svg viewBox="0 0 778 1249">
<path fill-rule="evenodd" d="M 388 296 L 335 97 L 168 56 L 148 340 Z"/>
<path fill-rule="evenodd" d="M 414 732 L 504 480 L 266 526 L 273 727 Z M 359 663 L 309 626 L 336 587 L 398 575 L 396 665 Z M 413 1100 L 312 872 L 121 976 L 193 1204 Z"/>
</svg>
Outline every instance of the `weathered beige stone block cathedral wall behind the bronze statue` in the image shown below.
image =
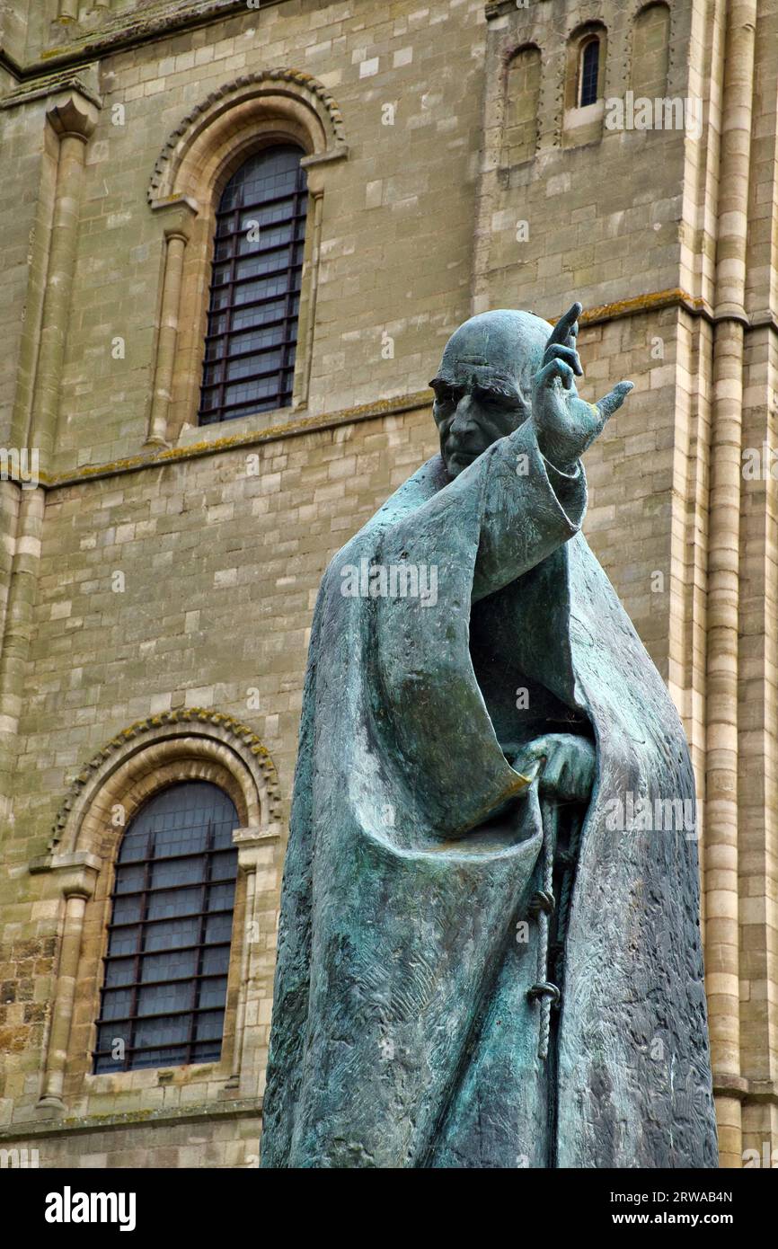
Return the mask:
<svg viewBox="0 0 778 1249">
<path fill-rule="evenodd" d="M 65 219 L 52 230 L 61 141 L 52 101 L 75 92 L 82 111 L 94 111 L 61 360 L 47 382 L 56 403 L 41 483 L 0 482 L 6 633 L 21 613 L 0 672 L 10 691 L 0 689 L 10 743 L 0 1149 L 36 1149 L 41 1167 L 256 1165 L 285 827 L 318 581 L 332 553 L 436 451 L 427 382 L 448 335 L 473 311 L 518 306 L 553 320 L 581 299 L 582 393 L 594 400 L 622 378 L 636 382 L 587 455 L 584 532 L 684 717 L 704 796 L 716 395 L 709 204 L 719 159 L 722 6 L 673 0 L 647 6 L 649 17 L 636 22 L 641 7 L 626 0 L 280 0 L 256 10 L 229 0 L 46 0 L 0 19 L 5 446 L 47 411 L 40 375 L 46 275 L 56 229 L 67 231 Z M 747 446 L 769 440 L 778 366 L 778 16 L 771 5 L 761 9 Z M 596 29 L 607 31 L 606 95 L 664 86 L 704 99 L 699 136 L 611 132 L 602 111 L 581 116 L 586 110 L 569 99 L 571 40 Z M 32 69 L 22 75 L 21 65 Z M 263 84 L 267 100 L 292 100 L 290 126 L 313 119 L 321 147 L 308 171 L 318 206 L 308 216 L 296 402 L 197 428 L 216 194 L 207 179 L 217 176 L 220 154 L 239 142 L 241 126 L 272 122 L 251 111 L 252 84 Z M 232 131 L 222 117 L 235 119 Z M 214 155 L 209 135 L 219 136 Z M 192 189 L 196 214 L 185 202 Z M 181 301 L 171 355 L 165 294 L 174 255 Z M 165 401 L 157 398 L 162 375 Z M 771 480 L 744 483 L 736 538 L 739 801 L 748 813 L 739 909 L 731 884 L 719 893 L 714 883 L 711 894 L 714 916 L 719 906 L 739 916 L 747 1074 L 737 1092 L 746 1099 L 737 1139 L 758 1150 L 778 1104 L 774 493 Z M 74 867 L 62 856 L 86 853 L 86 842 L 67 841 L 72 813 L 91 783 L 86 766 L 109 743 L 127 751 L 129 767 L 132 743 L 147 736 L 159 744 L 169 729 L 191 723 L 204 732 L 216 724 L 224 752 L 232 733 L 247 757 L 256 747 L 255 758 L 272 763 L 272 777 L 270 762 L 265 768 L 272 827 L 246 852 L 239 891 L 236 923 L 246 932 L 230 973 L 224 1060 L 91 1075 L 86 1055 L 119 833 L 106 826 L 89 843 L 94 862 Z M 62 859 L 54 867 L 52 853 Z M 94 892 L 69 911 L 67 897 L 81 888 L 62 883 L 71 868 L 91 873 Z M 71 912 L 81 926 L 72 967 Z M 713 973 L 724 944 L 708 945 Z M 65 973 L 75 994 L 64 1109 L 52 1115 L 39 1102 Z M 727 1130 L 731 1109 L 728 1102 Z M 739 1144 L 732 1150 L 737 1165 Z"/>
</svg>

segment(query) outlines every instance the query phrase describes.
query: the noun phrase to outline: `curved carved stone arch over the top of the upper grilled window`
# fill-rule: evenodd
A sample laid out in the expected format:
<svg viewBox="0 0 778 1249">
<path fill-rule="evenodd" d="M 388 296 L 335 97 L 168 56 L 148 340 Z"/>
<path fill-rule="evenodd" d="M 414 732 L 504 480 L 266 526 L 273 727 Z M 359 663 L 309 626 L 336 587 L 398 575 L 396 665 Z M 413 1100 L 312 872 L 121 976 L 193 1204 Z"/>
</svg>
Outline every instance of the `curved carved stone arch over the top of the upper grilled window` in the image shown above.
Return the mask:
<svg viewBox="0 0 778 1249">
<path fill-rule="evenodd" d="M 296 101 L 310 114 L 308 155 L 345 156 L 347 154 L 343 134 L 342 114 L 327 89 L 317 79 L 301 70 L 275 69 L 259 74 L 245 74 L 232 82 L 226 82 L 197 104 L 174 130 L 157 156 L 149 182 L 149 204 L 165 200 L 171 195 L 191 194 L 190 189 L 180 187 L 180 171 L 194 144 L 206 130 L 226 112 L 256 101 L 257 106 L 273 106 L 273 100 L 291 104 Z"/>
</svg>

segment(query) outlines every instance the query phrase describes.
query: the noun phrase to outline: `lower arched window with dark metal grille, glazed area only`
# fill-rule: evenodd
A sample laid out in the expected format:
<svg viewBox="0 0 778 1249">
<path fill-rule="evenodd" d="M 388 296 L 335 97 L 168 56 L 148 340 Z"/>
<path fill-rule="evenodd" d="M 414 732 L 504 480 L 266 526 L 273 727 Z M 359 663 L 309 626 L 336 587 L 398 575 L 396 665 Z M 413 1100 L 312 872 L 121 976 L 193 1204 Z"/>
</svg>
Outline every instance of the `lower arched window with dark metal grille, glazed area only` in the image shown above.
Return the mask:
<svg viewBox="0 0 778 1249">
<path fill-rule="evenodd" d="M 157 793 L 119 849 L 95 1072 L 221 1057 L 237 851 L 235 804 L 191 781 Z"/>
</svg>

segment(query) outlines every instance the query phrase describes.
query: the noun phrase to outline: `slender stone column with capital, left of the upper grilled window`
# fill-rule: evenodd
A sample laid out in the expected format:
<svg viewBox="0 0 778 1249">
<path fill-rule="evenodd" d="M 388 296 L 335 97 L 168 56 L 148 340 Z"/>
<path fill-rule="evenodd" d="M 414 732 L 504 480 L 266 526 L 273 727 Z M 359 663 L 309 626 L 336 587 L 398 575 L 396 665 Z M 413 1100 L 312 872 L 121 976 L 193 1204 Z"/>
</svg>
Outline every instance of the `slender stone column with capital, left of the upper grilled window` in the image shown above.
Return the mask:
<svg viewBox="0 0 778 1249">
<path fill-rule="evenodd" d="M 165 276 L 146 446 L 167 446 L 167 416 L 179 338 L 184 255 L 191 239 L 197 206 L 185 196 L 176 196 L 156 201 L 154 209 L 164 215 Z"/>
</svg>

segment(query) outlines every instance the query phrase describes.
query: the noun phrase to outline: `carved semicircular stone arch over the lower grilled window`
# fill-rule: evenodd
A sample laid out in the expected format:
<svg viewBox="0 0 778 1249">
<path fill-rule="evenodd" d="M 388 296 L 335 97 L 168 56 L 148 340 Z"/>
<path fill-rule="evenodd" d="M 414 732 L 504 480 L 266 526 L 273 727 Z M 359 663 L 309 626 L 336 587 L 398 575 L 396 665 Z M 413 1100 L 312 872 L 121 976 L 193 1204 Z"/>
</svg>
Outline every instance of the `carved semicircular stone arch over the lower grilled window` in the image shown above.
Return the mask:
<svg viewBox="0 0 778 1249">
<path fill-rule="evenodd" d="M 278 778 L 257 734 L 231 716 L 191 707 L 149 716 L 106 742 L 72 781 L 49 848 L 90 851 L 97 827 L 110 827 L 114 803 L 137 809 L 162 784 L 197 776 L 230 793 L 246 826 L 280 827 Z"/>
</svg>

